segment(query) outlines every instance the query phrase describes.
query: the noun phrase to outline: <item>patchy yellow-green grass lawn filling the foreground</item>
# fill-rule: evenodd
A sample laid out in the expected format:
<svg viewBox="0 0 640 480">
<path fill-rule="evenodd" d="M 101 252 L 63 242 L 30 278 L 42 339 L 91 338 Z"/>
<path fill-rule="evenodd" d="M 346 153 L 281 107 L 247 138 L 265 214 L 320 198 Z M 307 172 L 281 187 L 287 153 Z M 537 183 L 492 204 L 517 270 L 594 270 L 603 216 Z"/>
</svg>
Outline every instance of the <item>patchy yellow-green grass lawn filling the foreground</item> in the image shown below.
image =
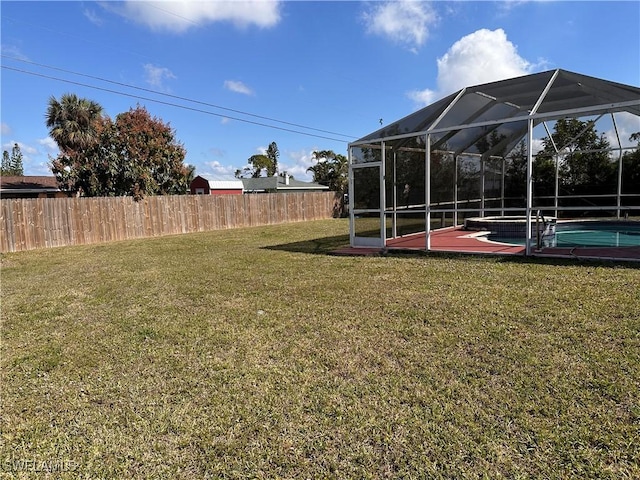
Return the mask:
<svg viewBox="0 0 640 480">
<path fill-rule="evenodd" d="M 0 478 L 640 478 L 637 265 L 347 232 L 2 255 Z"/>
</svg>

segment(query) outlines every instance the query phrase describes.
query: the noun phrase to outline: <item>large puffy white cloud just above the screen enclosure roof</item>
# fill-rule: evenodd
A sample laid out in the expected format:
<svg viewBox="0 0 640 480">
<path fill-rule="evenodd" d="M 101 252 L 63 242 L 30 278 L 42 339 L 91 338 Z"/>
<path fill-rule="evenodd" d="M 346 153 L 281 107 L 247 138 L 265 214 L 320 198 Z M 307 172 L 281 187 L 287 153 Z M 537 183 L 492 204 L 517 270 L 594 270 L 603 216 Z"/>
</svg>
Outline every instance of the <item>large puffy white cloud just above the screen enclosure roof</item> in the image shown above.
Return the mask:
<svg viewBox="0 0 640 480">
<path fill-rule="evenodd" d="M 518 55 L 516 46 L 502 29 L 482 29 L 462 37 L 437 64 L 437 91 L 407 93 L 421 107 L 461 88 L 527 75 L 534 68 Z"/>
</svg>

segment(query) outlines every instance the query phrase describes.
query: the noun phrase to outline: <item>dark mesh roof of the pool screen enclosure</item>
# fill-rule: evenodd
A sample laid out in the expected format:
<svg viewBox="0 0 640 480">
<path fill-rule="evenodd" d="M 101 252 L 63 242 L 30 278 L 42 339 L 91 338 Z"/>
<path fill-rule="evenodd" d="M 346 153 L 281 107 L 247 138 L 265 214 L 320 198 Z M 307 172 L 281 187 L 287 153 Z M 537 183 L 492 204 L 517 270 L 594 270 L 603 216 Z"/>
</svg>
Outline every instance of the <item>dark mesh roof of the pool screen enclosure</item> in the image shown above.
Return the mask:
<svg viewBox="0 0 640 480">
<path fill-rule="evenodd" d="M 557 69 L 463 88 L 351 145 L 430 133 L 432 149 L 500 155 L 524 137 L 530 119 L 535 126 L 615 112 L 640 116 L 640 88 Z M 477 143 L 488 135 L 500 141 L 481 152 Z"/>
</svg>

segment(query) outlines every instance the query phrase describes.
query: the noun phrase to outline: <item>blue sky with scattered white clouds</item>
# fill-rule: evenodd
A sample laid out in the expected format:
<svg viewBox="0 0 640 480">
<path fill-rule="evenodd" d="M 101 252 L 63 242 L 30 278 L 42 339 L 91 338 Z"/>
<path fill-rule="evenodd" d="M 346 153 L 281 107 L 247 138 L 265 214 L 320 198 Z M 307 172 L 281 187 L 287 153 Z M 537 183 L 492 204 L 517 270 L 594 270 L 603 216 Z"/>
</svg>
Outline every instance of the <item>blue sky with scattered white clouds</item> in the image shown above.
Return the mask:
<svg viewBox="0 0 640 480">
<path fill-rule="evenodd" d="M 196 174 L 230 179 L 271 142 L 300 180 L 314 150 L 459 88 L 562 68 L 640 85 L 640 2 L 2 1 L 1 139 L 26 175 L 57 154 L 48 99 L 175 130 Z M 622 125 L 627 133 L 639 125 Z M 640 128 L 638 128 L 640 129 Z"/>
</svg>

